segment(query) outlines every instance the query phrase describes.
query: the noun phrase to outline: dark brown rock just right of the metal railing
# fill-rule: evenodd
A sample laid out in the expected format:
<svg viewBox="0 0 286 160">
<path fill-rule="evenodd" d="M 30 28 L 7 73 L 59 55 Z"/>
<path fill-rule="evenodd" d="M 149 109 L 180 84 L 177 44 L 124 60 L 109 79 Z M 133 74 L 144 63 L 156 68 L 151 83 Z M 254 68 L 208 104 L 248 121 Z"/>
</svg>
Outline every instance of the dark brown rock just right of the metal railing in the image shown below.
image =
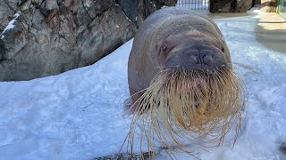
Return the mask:
<svg viewBox="0 0 286 160">
<path fill-rule="evenodd" d="M 210 0 L 210 12 L 248 12 L 253 0 Z"/>
</svg>

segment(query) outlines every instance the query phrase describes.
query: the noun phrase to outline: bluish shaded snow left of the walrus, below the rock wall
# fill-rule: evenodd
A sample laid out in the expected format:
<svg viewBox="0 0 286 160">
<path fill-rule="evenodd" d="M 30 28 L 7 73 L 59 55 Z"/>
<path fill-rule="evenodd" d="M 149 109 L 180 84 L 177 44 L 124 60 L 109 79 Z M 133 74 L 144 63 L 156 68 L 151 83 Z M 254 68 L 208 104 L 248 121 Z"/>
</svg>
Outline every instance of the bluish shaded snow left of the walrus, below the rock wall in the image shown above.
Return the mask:
<svg viewBox="0 0 286 160">
<path fill-rule="evenodd" d="M 132 41 L 93 66 L 0 83 L 0 157 L 87 159 L 114 154 L 130 126 L 126 64 Z"/>
</svg>

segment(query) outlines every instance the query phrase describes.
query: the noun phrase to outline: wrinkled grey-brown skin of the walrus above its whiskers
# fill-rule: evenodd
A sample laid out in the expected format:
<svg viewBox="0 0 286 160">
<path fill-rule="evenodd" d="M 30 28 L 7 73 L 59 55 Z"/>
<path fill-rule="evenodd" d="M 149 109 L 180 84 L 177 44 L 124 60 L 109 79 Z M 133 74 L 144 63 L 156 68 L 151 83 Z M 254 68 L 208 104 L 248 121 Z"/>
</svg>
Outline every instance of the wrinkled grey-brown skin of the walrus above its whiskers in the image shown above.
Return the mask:
<svg viewBox="0 0 286 160">
<path fill-rule="evenodd" d="M 168 51 L 162 53 L 164 43 L 167 43 Z M 212 52 L 211 64 L 195 64 L 191 55 L 199 57 L 202 50 Z M 214 68 L 220 65 L 231 68 L 231 56 L 213 20 L 184 8 L 158 10 L 143 22 L 130 52 L 128 83 L 132 104 L 163 68 Z M 135 108 L 132 107 L 130 112 Z"/>
</svg>

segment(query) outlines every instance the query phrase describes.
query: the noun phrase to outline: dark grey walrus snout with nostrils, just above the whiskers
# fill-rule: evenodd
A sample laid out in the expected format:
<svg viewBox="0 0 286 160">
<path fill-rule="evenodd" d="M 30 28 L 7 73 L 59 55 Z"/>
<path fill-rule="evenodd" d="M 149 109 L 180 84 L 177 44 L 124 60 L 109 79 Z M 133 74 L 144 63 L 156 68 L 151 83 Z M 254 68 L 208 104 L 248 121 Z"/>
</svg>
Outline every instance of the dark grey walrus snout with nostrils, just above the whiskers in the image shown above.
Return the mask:
<svg viewBox="0 0 286 160">
<path fill-rule="evenodd" d="M 195 49 L 194 49 L 195 48 Z M 214 46 L 198 46 L 170 52 L 165 67 L 216 68 L 225 67 L 228 61 L 223 52 Z"/>
</svg>

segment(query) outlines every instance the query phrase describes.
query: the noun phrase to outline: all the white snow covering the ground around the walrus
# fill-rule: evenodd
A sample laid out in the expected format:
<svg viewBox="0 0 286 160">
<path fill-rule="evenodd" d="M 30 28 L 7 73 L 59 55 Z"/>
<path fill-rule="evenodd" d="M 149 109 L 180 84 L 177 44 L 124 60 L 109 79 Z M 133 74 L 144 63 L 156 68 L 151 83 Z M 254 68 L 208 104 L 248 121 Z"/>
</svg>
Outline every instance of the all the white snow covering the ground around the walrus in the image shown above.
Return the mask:
<svg viewBox="0 0 286 160">
<path fill-rule="evenodd" d="M 234 147 L 232 131 L 223 146 L 200 150 L 201 159 L 286 159 L 279 151 L 286 141 L 286 52 L 257 41 L 254 21 L 263 15 L 254 11 L 214 19 L 231 50 L 233 67 L 246 85 L 248 109 Z M 132 40 L 92 66 L 58 76 L 0 82 L 0 159 L 90 159 L 117 154 L 131 120 L 123 116 L 123 101 L 129 97 L 131 44 Z M 139 149 L 138 141 L 135 148 Z M 156 157 L 168 159 L 164 150 Z"/>
</svg>

